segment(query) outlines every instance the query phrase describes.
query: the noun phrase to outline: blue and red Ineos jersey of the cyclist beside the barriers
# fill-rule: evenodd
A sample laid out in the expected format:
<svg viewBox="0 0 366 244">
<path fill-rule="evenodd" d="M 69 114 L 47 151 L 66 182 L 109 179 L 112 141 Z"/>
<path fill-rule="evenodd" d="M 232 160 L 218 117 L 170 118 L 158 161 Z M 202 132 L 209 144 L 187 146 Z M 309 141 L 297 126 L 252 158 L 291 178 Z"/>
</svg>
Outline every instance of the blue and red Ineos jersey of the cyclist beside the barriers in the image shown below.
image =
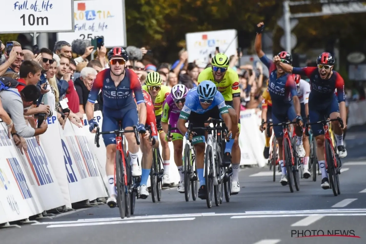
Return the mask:
<svg viewBox="0 0 366 244">
<path fill-rule="evenodd" d="M 123 108 L 136 109 L 136 103 L 144 102 L 140 79 L 130 69 L 125 69 L 124 78 L 117 87 L 111 78 L 110 69 L 104 69 L 99 72 L 93 82 L 88 101 L 95 103 L 101 89 L 103 93 L 103 107 L 115 110 Z M 135 93 L 136 103 L 132 97 L 132 92 Z"/>
</svg>

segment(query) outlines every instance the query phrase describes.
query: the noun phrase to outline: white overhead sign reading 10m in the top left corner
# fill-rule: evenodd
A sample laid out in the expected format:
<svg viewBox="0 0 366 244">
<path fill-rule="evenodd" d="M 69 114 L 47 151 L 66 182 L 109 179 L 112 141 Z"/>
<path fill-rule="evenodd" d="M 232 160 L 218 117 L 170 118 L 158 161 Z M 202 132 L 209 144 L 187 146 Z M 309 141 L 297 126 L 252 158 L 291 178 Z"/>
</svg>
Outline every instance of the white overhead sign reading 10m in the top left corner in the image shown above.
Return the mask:
<svg viewBox="0 0 366 244">
<path fill-rule="evenodd" d="M 3 0 L 1 33 L 74 31 L 74 0 Z"/>
</svg>

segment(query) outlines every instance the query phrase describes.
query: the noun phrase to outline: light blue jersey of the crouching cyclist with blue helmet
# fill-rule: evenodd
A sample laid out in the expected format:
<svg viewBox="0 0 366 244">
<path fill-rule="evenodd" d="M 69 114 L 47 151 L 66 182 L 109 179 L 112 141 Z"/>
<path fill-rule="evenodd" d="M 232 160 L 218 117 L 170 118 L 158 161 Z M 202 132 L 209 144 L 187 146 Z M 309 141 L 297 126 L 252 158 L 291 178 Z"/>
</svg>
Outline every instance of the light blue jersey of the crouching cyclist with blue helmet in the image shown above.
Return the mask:
<svg viewBox="0 0 366 244">
<path fill-rule="evenodd" d="M 206 109 L 203 109 L 201 106 L 200 99 L 198 97 L 197 87 L 195 87 L 188 91 L 188 94 L 185 99 L 185 103 L 184 103 L 183 109 L 179 115 L 179 118 L 188 120 L 188 117 L 191 112 L 195 112 L 197 114 L 204 114 L 208 110 L 211 110 L 216 106 L 218 106 L 220 114 L 229 112 L 229 110 L 227 109 L 227 106 L 225 104 L 224 97 L 220 92 L 216 93 L 215 98 L 212 101 L 212 103 L 210 104 L 210 106 Z"/>
</svg>

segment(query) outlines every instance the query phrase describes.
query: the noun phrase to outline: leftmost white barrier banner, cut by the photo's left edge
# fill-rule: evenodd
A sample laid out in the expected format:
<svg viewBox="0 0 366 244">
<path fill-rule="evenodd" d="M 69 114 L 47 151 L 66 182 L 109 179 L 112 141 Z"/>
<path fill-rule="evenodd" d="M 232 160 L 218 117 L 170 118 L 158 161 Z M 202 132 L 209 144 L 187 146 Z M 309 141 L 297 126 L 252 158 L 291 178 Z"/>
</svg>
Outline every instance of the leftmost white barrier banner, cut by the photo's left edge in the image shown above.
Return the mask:
<svg viewBox="0 0 366 244">
<path fill-rule="evenodd" d="M 31 214 L 25 200 L 34 196 L 29 190 L 17 158 L 7 129 L 0 123 L 0 205 L 6 215 L 6 219 L 2 220 L 5 223 L 26 219 Z"/>
</svg>

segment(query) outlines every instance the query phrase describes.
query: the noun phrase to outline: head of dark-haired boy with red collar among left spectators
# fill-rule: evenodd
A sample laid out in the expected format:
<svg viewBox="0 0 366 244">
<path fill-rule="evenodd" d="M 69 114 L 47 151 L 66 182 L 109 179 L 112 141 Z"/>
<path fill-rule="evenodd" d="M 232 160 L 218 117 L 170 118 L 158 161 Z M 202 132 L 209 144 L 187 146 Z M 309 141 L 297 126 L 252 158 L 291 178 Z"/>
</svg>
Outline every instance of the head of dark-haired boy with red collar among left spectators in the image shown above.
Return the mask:
<svg viewBox="0 0 366 244">
<path fill-rule="evenodd" d="M 37 85 L 41 79 L 41 66 L 36 61 L 26 60 L 21 63 L 17 89 L 20 92 L 26 85 Z"/>
</svg>

